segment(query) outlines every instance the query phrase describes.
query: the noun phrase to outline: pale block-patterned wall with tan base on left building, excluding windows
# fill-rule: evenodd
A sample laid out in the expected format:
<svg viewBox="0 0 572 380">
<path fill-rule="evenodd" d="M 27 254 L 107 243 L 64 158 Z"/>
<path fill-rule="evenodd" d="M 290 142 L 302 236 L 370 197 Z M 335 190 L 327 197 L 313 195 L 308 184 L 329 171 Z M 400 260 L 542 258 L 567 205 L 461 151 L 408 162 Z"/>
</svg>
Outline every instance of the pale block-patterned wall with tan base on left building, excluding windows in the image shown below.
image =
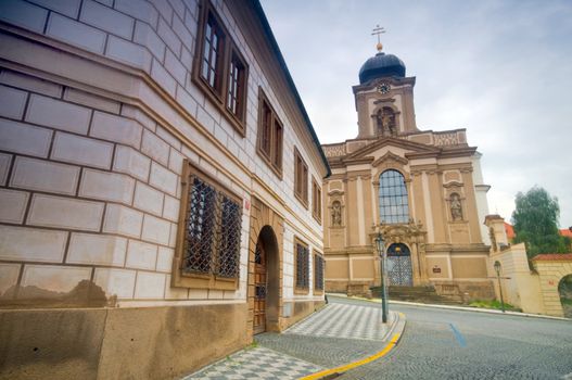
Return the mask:
<svg viewBox="0 0 572 380">
<path fill-rule="evenodd" d="M 177 378 L 247 344 L 253 197 L 284 219 L 288 324 L 322 303 L 292 290 L 294 237 L 323 252 L 294 147 L 326 169 L 269 48 L 212 3 L 249 64 L 245 137 L 191 80 L 198 0 L 0 1 L 0 378 Z M 281 178 L 256 153 L 259 88 L 284 127 Z M 170 286 L 183 159 L 243 201 L 237 290 Z"/>
</svg>

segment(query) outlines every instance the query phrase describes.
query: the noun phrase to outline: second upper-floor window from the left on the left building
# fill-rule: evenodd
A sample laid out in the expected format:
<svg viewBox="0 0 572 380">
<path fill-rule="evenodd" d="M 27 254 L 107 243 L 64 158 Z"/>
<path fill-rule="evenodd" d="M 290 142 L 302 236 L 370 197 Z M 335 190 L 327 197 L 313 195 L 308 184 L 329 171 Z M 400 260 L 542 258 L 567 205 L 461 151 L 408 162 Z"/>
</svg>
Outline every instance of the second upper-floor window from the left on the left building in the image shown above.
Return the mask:
<svg viewBox="0 0 572 380">
<path fill-rule="evenodd" d="M 282 178 L 282 123 L 262 89 L 258 90 L 258 153 Z"/>
</svg>

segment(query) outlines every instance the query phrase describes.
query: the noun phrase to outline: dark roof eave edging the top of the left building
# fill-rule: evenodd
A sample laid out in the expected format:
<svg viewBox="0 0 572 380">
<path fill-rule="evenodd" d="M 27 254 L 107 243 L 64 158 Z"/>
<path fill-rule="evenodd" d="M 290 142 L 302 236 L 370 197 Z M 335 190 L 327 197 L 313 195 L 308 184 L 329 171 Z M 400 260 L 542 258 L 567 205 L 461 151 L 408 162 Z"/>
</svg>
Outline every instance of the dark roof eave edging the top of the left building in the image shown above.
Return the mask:
<svg viewBox="0 0 572 380">
<path fill-rule="evenodd" d="M 260 18 L 260 23 L 262 23 L 264 31 L 266 33 L 266 37 L 268 37 L 268 40 L 278 59 L 278 62 L 280 63 L 280 66 L 282 67 L 284 72 L 288 85 L 290 86 L 290 89 L 292 90 L 292 93 L 294 94 L 296 104 L 300 107 L 302 116 L 304 117 L 304 121 L 308 125 L 308 130 L 312 135 L 312 139 L 314 140 L 314 143 L 316 148 L 318 149 L 318 152 L 320 153 L 321 161 L 323 165 L 326 166 L 326 177 L 329 177 L 332 174 L 332 172 L 330 169 L 330 165 L 328 164 L 328 159 L 326 159 L 326 154 L 323 153 L 323 150 L 321 149 L 320 140 L 318 139 L 318 136 L 316 135 L 316 131 L 314 130 L 314 126 L 312 125 L 312 122 L 309 121 L 309 116 L 308 116 L 308 113 L 306 112 L 306 107 L 304 106 L 304 103 L 302 102 L 302 98 L 300 97 L 300 93 L 297 92 L 296 85 L 294 85 L 294 80 L 292 79 L 292 75 L 290 75 L 290 71 L 288 69 L 288 66 L 285 64 L 284 56 L 282 55 L 282 52 L 280 51 L 280 48 L 278 47 L 278 42 L 276 41 L 272 29 L 270 28 L 268 18 L 266 18 L 266 14 L 264 13 L 260 1 L 253 0 L 252 2 L 254 4 L 254 10 L 257 16 Z"/>
</svg>

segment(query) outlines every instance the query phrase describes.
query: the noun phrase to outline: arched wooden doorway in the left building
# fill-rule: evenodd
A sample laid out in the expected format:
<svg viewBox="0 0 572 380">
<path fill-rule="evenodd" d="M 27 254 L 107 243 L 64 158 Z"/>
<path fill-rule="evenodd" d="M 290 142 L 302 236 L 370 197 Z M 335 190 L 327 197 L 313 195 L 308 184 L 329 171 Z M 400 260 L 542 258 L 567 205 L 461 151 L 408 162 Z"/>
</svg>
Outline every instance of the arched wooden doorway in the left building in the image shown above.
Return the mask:
<svg viewBox="0 0 572 380">
<path fill-rule="evenodd" d="M 254 251 L 253 331 L 276 330 L 279 316 L 280 265 L 278 242 L 270 226 L 264 226 Z"/>
</svg>

